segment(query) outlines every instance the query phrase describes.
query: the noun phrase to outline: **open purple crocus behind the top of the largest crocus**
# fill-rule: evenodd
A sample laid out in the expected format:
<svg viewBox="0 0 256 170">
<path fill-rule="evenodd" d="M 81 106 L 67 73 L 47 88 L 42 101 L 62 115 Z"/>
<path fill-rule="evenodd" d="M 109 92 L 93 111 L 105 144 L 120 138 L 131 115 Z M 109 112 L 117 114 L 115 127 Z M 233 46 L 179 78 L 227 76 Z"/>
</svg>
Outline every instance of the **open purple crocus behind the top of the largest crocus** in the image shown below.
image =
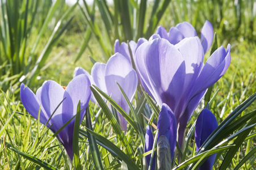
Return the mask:
<svg viewBox="0 0 256 170">
<path fill-rule="evenodd" d="M 167 32 L 162 26 L 159 26 L 156 34 L 160 35 L 161 38 L 168 40 L 173 45 L 177 44 L 184 38 L 197 36 L 195 28 L 188 22 L 179 23 L 175 27 L 171 27 L 169 32 Z M 204 53 L 206 53 L 211 47 L 213 41 L 213 27 L 208 20 L 204 23 L 200 39 Z"/>
</svg>

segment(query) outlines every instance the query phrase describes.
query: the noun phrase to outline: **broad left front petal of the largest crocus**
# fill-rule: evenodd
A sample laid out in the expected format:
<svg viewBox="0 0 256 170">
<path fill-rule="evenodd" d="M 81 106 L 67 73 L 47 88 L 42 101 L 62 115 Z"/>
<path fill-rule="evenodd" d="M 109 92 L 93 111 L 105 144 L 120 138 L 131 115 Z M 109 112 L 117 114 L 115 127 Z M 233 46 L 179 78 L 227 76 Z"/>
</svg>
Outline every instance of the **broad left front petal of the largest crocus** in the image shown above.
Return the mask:
<svg viewBox="0 0 256 170">
<path fill-rule="evenodd" d="M 148 46 L 144 61 L 153 88 L 152 95 L 160 107 L 162 103 L 166 103 L 170 108 L 176 108 L 183 91 L 186 69 L 184 58 L 179 50 L 165 39 L 149 41 Z"/>
</svg>

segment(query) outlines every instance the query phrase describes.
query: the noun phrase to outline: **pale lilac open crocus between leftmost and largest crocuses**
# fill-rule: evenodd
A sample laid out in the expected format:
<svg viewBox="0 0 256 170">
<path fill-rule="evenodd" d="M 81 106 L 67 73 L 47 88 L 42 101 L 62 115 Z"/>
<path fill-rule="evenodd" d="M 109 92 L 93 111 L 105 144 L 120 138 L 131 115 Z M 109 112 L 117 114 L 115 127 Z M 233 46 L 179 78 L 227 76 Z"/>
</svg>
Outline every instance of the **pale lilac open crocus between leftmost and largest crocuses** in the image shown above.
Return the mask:
<svg viewBox="0 0 256 170">
<path fill-rule="evenodd" d="M 79 70 L 79 71 L 78 71 Z M 83 69 L 75 71 L 74 76 L 83 74 Z M 84 73 L 85 74 L 85 73 Z M 92 84 L 95 84 L 107 95 L 129 113 L 129 106 L 116 82 L 123 88 L 128 99 L 132 101 L 137 88 L 137 74 L 131 63 L 122 54 L 116 53 L 108 59 L 107 64 L 96 62 L 91 69 Z M 122 130 L 127 129 L 127 120 L 118 113 L 119 123 Z"/>
</svg>

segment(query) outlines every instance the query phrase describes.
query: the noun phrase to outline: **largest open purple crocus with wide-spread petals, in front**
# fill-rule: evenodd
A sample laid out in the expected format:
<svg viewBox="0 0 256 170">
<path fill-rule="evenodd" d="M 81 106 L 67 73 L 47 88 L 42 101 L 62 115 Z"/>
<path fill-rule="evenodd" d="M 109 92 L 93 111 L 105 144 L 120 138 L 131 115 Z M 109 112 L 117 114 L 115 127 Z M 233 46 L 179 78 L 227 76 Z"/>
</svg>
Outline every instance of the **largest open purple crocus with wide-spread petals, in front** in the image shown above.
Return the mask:
<svg viewBox="0 0 256 170">
<path fill-rule="evenodd" d="M 223 46 L 218 48 L 204 64 L 204 50 L 198 37 L 183 39 L 176 45 L 154 37 L 139 46 L 135 63 L 158 105 L 166 103 L 175 114 L 181 145 L 192 112 L 207 88 L 228 69 L 230 45 L 227 50 Z"/>
</svg>

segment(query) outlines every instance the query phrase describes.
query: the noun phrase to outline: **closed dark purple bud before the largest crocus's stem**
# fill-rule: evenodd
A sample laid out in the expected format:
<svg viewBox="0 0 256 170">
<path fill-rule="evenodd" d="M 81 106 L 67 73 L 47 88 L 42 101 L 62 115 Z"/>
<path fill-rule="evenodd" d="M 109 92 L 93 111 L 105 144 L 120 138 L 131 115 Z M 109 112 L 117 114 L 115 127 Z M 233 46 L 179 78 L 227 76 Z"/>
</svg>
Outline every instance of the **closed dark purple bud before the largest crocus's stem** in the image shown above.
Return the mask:
<svg viewBox="0 0 256 170">
<path fill-rule="evenodd" d="M 171 111 L 171 109 L 165 103 L 163 103 L 158 116 L 157 129 L 157 141 L 158 138 L 161 137 L 161 135 L 165 135 L 170 143 L 171 160 L 173 160 L 177 140 L 177 124 L 173 111 Z"/>
</svg>

